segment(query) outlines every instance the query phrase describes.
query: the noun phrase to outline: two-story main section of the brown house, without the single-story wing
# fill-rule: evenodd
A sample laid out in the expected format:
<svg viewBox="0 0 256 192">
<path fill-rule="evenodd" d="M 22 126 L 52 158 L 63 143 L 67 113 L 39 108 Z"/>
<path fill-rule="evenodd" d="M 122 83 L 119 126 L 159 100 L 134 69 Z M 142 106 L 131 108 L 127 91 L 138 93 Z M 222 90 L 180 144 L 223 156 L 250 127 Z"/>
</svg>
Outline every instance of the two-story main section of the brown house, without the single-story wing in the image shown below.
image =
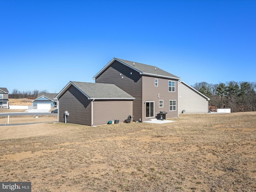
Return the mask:
<svg viewBox="0 0 256 192">
<path fill-rule="evenodd" d="M 166 118 L 178 117 L 178 80 L 181 78 L 156 66 L 113 58 L 93 79 L 96 83 L 115 84 L 135 98 L 133 121 L 148 121 L 156 118 L 160 111 L 167 112 Z"/>
</svg>

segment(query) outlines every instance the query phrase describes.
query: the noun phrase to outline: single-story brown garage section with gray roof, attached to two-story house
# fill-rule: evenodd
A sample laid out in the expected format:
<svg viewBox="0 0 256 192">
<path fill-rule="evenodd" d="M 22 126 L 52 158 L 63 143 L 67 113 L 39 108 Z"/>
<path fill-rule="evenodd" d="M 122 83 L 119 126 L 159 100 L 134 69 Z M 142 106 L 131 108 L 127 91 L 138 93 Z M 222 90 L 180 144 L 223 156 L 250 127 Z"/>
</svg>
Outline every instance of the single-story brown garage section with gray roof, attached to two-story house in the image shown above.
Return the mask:
<svg viewBox="0 0 256 192">
<path fill-rule="evenodd" d="M 83 125 L 107 124 L 110 120 L 124 122 L 132 115 L 134 97 L 114 84 L 70 81 L 56 96 L 58 121 Z"/>
</svg>

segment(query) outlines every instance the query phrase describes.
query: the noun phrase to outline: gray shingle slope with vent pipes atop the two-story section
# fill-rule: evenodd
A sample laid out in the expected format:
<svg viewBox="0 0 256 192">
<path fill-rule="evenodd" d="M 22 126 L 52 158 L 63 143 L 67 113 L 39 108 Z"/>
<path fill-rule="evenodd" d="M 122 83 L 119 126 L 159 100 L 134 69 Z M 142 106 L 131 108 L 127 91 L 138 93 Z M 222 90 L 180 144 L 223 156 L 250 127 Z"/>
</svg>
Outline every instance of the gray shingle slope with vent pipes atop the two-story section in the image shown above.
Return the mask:
<svg viewBox="0 0 256 192">
<path fill-rule="evenodd" d="M 165 76 L 165 77 L 170 77 L 170 78 L 178 78 L 180 79 L 178 76 L 168 73 L 156 66 L 152 66 L 152 65 L 146 65 L 146 64 L 142 64 L 142 63 L 137 63 L 137 62 L 132 62 L 132 61 L 127 61 L 127 60 L 123 60 L 123 59 L 118 59 L 115 58 L 118 61 L 121 61 L 125 64 L 127 64 L 128 66 L 130 66 L 131 68 L 134 68 L 140 72 L 142 72 L 142 74 L 148 74 L 148 75 L 156 75 L 156 76 Z"/>
</svg>

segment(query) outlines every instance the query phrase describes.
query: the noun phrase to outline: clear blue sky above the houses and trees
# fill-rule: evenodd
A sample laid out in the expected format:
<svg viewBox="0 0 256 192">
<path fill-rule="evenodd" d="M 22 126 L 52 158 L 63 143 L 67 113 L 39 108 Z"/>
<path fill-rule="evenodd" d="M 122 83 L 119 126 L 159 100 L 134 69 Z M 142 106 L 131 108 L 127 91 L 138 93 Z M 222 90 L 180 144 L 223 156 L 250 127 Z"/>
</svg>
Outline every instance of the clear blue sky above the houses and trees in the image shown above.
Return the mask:
<svg viewBox="0 0 256 192">
<path fill-rule="evenodd" d="M 189 85 L 256 81 L 254 0 L 0 0 L 0 87 L 60 92 L 112 58 Z"/>
</svg>

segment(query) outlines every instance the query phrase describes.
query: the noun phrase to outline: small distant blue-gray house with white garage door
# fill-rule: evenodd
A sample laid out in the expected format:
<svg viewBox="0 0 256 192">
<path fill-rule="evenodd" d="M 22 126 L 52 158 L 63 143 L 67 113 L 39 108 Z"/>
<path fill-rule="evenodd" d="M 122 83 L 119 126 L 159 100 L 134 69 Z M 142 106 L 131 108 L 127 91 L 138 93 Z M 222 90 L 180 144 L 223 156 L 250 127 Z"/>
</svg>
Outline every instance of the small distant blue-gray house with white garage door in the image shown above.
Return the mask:
<svg viewBox="0 0 256 192">
<path fill-rule="evenodd" d="M 58 106 L 58 101 L 55 98 L 56 93 L 40 93 L 38 98 L 33 100 L 34 109 L 53 109 Z"/>
</svg>

